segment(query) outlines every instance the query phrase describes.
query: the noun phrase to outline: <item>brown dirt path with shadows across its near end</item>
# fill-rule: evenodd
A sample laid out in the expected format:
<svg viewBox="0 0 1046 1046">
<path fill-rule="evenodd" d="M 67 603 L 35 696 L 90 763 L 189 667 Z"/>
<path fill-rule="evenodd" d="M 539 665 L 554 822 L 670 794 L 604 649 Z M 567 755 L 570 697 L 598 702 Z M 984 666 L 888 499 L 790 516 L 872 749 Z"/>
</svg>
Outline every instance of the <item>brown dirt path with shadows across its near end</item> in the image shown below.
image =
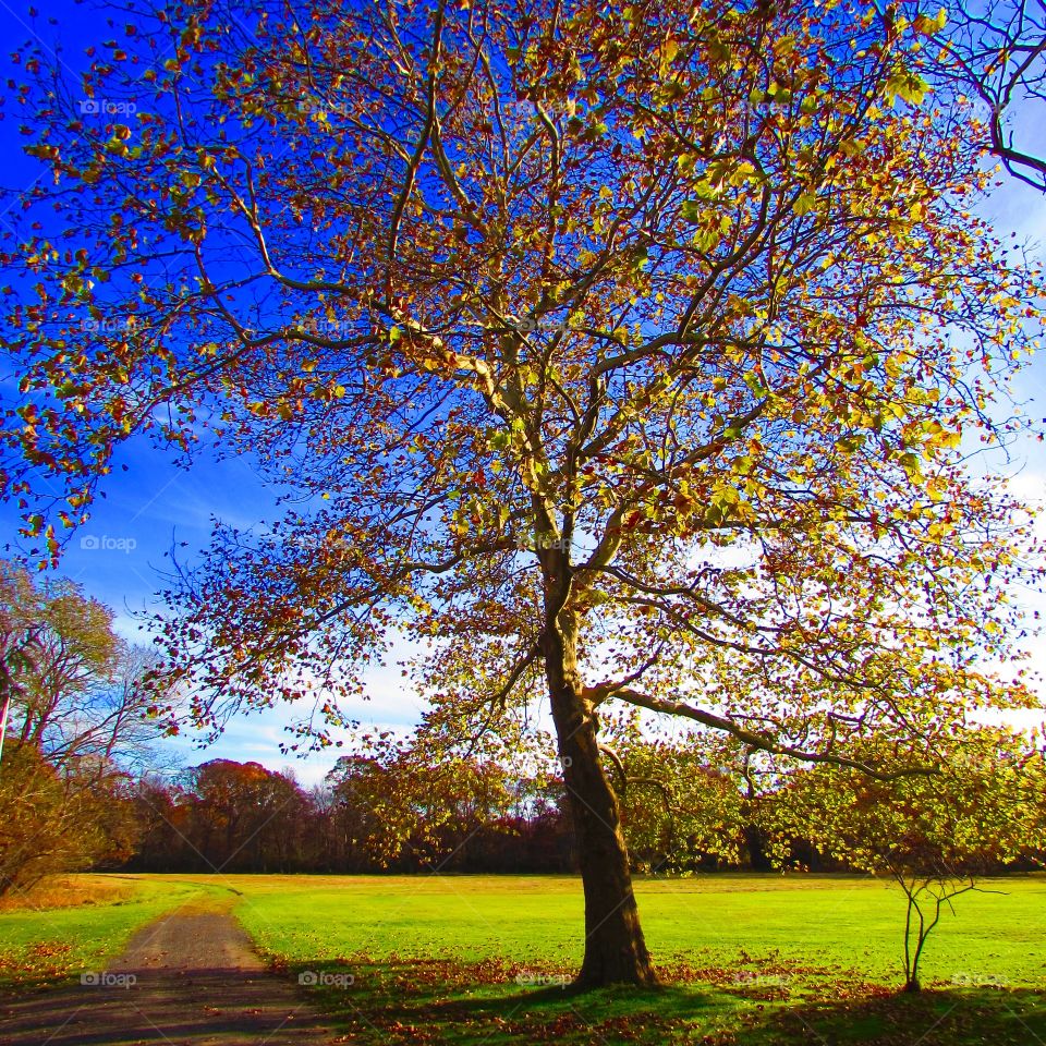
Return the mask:
<svg viewBox="0 0 1046 1046">
<path fill-rule="evenodd" d="M 99 980 L 104 983 L 3 1000 L 0 1044 L 329 1046 L 346 1042 L 324 1026 L 296 985 L 266 970 L 239 924 L 214 908 L 182 908 L 141 929 Z"/>
</svg>

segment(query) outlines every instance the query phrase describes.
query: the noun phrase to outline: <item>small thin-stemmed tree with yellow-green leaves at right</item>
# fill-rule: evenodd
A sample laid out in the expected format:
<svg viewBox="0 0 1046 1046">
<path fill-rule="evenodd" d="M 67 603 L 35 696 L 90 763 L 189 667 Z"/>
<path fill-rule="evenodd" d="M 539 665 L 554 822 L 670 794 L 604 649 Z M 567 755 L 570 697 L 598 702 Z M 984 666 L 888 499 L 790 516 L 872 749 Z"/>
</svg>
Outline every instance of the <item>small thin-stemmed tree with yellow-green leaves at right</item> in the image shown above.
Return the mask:
<svg viewBox="0 0 1046 1046">
<path fill-rule="evenodd" d="M 890 781 L 840 767 L 792 771 L 757 804 L 778 863 L 791 863 L 800 839 L 900 887 L 909 992 L 920 990 L 927 938 L 954 899 L 1018 860 L 1041 865 L 1046 847 L 1046 761 L 1032 740 L 982 726 L 938 755 L 940 774 Z"/>
</svg>

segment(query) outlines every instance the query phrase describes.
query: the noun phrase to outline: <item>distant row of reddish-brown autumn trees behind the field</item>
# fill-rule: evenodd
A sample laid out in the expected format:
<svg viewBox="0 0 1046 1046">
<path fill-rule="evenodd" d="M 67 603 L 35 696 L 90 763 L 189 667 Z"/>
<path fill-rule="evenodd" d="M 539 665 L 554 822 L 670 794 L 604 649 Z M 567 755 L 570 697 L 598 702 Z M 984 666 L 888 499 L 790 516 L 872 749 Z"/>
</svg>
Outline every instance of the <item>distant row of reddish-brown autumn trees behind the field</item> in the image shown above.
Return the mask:
<svg viewBox="0 0 1046 1046">
<path fill-rule="evenodd" d="M 323 786 L 306 790 L 292 776 L 257 763 L 214 759 L 177 784 L 146 779 L 130 796 L 137 844 L 118 866 L 332 874 L 576 871 L 561 782 L 513 778 L 497 764 L 470 761 L 442 769 L 349 757 Z M 653 811 L 632 810 L 631 818 L 625 810 L 636 871 L 770 867 L 755 826 L 743 826 L 734 861 L 708 852 L 693 837 L 643 846 L 644 816 L 652 812 L 656 804 Z M 796 856 L 813 869 L 838 867 L 802 844 Z"/>
</svg>

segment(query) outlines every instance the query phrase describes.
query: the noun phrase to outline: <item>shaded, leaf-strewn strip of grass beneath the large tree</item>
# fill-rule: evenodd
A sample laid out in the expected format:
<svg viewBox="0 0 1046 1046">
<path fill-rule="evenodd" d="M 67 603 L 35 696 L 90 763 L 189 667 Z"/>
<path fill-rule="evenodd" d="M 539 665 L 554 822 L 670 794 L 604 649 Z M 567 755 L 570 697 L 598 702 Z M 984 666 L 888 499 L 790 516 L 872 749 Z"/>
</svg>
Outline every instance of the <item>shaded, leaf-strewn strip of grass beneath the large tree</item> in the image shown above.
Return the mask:
<svg viewBox="0 0 1046 1046">
<path fill-rule="evenodd" d="M 856 983 L 836 990 L 825 976 L 794 994 L 705 980 L 577 993 L 564 974 L 491 961 L 357 956 L 339 965 L 352 971 L 352 985 L 318 987 L 313 998 L 361 1046 L 1046 1046 L 1046 994 L 1031 989 L 912 996 Z"/>
</svg>

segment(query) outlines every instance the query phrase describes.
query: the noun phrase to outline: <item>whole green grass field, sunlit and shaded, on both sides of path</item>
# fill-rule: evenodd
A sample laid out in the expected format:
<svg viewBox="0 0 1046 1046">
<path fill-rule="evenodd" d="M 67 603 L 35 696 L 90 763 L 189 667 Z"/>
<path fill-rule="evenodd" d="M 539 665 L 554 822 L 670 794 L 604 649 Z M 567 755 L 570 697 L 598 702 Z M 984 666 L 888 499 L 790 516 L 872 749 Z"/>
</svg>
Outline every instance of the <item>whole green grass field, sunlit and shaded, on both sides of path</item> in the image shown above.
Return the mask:
<svg viewBox="0 0 1046 1046">
<path fill-rule="evenodd" d="M 101 877 L 92 877 L 98 880 Z M 640 881 L 664 989 L 576 996 L 570 877 L 137 876 L 131 896 L 0 913 L 0 975 L 33 949 L 52 976 L 98 969 L 133 929 L 184 903 L 228 907 L 278 970 L 351 974 L 308 990 L 354 1041 L 381 1043 L 877 1043 L 1046 1046 L 1046 877 L 962 897 L 900 983 L 903 901 L 844 876 Z M 121 889 L 129 878 L 120 879 Z M 37 964 L 39 965 L 39 963 Z M 45 971 L 46 972 L 46 971 Z M 40 969 L 33 974 L 37 978 Z M 23 975 L 24 976 L 24 975 Z"/>
</svg>

